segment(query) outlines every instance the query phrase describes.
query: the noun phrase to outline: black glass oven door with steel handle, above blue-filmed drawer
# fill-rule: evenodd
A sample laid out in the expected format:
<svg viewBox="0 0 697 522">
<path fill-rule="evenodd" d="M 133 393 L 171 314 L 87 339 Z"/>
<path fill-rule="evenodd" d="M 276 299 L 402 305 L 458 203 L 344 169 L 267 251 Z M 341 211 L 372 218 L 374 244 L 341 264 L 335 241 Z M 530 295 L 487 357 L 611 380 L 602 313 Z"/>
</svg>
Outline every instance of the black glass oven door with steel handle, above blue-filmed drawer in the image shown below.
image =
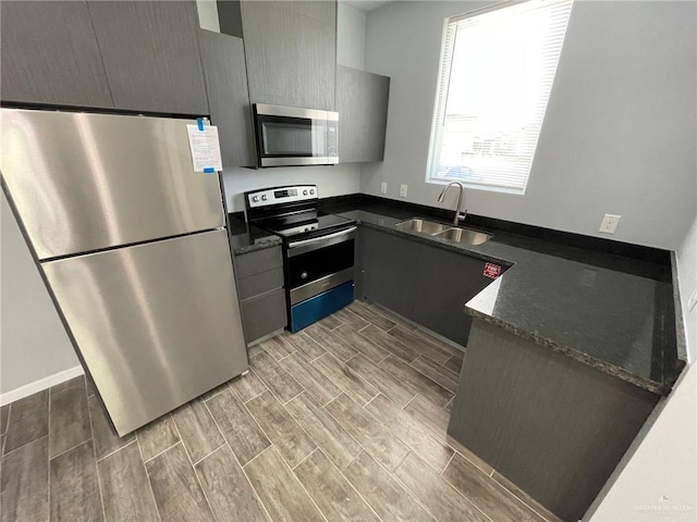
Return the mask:
<svg viewBox="0 0 697 522">
<path fill-rule="evenodd" d="M 353 226 L 289 245 L 286 287 L 291 306 L 353 281 L 355 237 Z"/>
</svg>

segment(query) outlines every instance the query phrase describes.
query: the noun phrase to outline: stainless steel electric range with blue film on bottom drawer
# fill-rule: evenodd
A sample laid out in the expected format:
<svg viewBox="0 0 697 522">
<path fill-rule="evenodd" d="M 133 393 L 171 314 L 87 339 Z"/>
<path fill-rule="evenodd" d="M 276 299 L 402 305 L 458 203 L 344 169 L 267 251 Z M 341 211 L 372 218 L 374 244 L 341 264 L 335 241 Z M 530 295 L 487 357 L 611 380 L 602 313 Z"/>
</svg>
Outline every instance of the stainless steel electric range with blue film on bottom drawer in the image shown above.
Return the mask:
<svg viewBox="0 0 697 522">
<path fill-rule="evenodd" d="M 291 332 L 353 301 L 356 223 L 317 208 L 316 185 L 245 192 L 247 222 L 283 238 Z"/>
</svg>

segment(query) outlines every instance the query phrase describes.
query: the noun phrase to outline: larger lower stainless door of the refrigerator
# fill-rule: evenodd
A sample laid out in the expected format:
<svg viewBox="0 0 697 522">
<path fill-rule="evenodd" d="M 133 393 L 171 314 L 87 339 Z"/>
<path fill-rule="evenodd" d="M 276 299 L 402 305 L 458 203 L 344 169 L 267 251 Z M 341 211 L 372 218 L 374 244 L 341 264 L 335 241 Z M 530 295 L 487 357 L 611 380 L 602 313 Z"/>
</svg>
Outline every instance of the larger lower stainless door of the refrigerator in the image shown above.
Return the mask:
<svg viewBox="0 0 697 522">
<path fill-rule="evenodd" d="M 248 366 L 225 231 L 42 268 L 120 435 Z"/>
</svg>

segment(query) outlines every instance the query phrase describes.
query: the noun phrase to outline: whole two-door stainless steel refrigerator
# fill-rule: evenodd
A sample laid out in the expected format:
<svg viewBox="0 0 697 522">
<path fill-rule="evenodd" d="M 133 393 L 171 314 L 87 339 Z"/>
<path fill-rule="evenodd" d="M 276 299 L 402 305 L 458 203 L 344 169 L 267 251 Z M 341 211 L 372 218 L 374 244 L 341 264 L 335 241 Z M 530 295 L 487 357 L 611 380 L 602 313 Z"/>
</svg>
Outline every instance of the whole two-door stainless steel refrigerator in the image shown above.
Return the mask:
<svg viewBox="0 0 697 522">
<path fill-rule="evenodd" d="M 3 190 L 120 435 L 248 366 L 220 177 L 194 172 L 187 124 L 1 110 Z"/>
</svg>

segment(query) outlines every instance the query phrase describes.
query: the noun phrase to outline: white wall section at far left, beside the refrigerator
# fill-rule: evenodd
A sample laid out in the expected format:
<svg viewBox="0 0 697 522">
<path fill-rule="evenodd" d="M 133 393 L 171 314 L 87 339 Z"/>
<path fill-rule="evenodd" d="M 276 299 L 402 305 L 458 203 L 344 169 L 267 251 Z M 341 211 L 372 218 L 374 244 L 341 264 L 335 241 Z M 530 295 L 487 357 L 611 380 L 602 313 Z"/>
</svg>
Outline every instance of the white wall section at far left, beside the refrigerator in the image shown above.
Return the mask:
<svg viewBox="0 0 697 522">
<path fill-rule="evenodd" d="M 4 194 L 1 199 L 0 402 L 7 402 L 19 398 L 8 393 L 82 368 Z"/>
</svg>

